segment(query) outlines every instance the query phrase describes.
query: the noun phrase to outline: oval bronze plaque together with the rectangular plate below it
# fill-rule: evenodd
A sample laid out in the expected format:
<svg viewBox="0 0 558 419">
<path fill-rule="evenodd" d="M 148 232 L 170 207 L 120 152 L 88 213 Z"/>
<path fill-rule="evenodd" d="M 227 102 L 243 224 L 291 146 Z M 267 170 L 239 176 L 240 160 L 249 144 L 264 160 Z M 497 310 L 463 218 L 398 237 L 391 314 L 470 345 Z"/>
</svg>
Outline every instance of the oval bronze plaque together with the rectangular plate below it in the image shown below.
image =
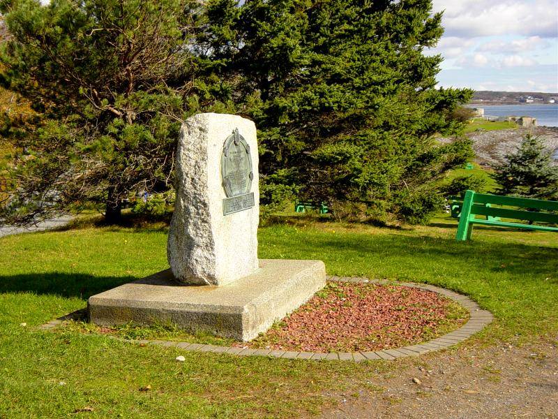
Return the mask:
<svg viewBox="0 0 558 419">
<path fill-rule="evenodd" d="M 238 129 L 235 129 L 227 137 L 223 145 L 221 177 L 225 195 L 229 198 L 223 200 L 223 214 L 248 210 L 248 208 L 254 206 L 254 194 L 252 193 L 251 199 L 249 197 L 250 189 L 252 189 L 252 179 L 254 179 L 250 146 L 240 135 Z M 239 197 L 239 199 L 230 199 L 236 197 Z"/>
</svg>

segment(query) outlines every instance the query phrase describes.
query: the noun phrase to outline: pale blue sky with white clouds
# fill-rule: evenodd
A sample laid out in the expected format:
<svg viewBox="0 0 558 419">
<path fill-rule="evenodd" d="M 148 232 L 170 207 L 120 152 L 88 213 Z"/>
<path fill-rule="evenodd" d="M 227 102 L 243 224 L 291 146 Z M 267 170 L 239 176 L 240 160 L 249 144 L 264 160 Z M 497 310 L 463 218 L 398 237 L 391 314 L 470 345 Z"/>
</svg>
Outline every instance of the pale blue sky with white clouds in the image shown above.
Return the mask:
<svg viewBox="0 0 558 419">
<path fill-rule="evenodd" d="M 443 87 L 558 92 L 558 0 L 434 0 Z"/>
</svg>

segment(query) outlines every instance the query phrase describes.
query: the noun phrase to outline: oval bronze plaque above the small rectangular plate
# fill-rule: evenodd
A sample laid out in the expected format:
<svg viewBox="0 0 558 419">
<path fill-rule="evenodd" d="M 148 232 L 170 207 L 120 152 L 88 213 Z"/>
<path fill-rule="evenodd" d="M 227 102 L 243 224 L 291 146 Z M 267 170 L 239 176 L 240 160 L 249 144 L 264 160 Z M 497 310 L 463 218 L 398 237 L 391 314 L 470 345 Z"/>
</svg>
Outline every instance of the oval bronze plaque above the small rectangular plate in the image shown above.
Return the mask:
<svg viewBox="0 0 558 419">
<path fill-rule="evenodd" d="M 250 146 L 235 129 L 223 145 L 221 177 L 228 198 L 245 195 L 252 188 L 252 158 Z"/>
</svg>

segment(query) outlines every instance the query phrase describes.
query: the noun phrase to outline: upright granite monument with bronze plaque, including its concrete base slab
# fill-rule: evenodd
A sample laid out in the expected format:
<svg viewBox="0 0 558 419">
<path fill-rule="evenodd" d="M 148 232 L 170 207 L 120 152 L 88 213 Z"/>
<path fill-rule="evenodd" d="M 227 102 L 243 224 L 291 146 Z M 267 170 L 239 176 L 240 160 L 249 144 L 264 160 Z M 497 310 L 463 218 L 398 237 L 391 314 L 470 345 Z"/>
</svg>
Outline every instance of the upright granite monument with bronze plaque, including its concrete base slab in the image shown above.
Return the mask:
<svg viewBox="0 0 558 419">
<path fill-rule="evenodd" d="M 190 117 L 176 154 L 170 269 L 93 295 L 99 325 L 173 323 L 248 341 L 326 283 L 320 260 L 258 260 L 258 154 L 253 122 Z"/>
</svg>

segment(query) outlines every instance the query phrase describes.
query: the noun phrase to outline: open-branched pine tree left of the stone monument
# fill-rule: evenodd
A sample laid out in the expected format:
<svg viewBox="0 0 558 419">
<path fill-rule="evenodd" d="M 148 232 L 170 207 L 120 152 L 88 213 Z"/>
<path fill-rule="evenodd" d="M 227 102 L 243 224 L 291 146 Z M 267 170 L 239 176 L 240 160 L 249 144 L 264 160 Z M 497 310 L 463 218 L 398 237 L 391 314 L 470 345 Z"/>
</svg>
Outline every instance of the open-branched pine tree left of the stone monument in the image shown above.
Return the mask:
<svg viewBox="0 0 558 419">
<path fill-rule="evenodd" d="M 5 87 L 42 117 L 22 133 L 17 193 L 1 216 L 29 223 L 86 203 L 118 221 L 123 199 L 166 190 L 192 91 L 199 3 L 189 0 L 6 0 Z M 186 81 L 185 81 L 186 80 Z"/>
</svg>

